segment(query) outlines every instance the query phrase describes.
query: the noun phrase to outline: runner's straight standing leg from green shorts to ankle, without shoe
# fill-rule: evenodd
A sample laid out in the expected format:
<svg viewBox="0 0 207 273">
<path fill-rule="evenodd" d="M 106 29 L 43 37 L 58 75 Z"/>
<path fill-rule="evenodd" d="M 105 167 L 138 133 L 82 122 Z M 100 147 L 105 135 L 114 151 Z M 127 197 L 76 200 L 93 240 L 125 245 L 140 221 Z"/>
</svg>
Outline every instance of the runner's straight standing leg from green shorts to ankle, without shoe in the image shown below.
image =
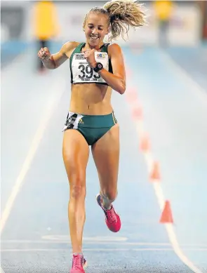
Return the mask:
<svg viewBox="0 0 207 273">
<path fill-rule="evenodd" d="M 89 157 L 89 147 L 84 136 L 79 131 L 75 129 L 65 131 L 62 156 L 69 180 L 68 218 L 72 252 L 81 253 L 86 219 L 86 166 Z"/>
</svg>

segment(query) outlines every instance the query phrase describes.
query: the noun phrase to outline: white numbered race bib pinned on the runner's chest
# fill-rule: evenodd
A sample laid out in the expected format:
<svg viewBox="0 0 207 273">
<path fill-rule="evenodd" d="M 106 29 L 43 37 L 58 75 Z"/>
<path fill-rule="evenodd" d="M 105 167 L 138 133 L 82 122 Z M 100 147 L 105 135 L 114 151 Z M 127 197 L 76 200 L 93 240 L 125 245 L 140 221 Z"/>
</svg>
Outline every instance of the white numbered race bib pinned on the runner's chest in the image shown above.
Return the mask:
<svg viewBox="0 0 207 273">
<path fill-rule="evenodd" d="M 96 62 L 101 62 L 103 67 L 109 71 L 109 56 L 105 52 L 95 52 Z M 75 53 L 72 60 L 73 82 L 77 83 L 106 83 L 102 77 L 93 71 L 88 65 L 83 53 Z"/>
</svg>

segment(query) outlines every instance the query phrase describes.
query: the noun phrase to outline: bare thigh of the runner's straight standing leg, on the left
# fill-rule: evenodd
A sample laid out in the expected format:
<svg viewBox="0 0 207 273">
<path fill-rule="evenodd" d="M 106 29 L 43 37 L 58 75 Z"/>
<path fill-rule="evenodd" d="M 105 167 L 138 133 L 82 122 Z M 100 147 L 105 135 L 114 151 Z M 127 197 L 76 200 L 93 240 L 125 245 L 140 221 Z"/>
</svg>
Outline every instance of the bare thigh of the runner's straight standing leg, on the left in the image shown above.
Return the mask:
<svg viewBox="0 0 207 273">
<path fill-rule="evenodd" d="M 70 185 L 86 184 L 86 166 L 89 157 L 88 144 L 75 129 L 66 130 L 63 137 L 62 157 Z"/>
</svg>

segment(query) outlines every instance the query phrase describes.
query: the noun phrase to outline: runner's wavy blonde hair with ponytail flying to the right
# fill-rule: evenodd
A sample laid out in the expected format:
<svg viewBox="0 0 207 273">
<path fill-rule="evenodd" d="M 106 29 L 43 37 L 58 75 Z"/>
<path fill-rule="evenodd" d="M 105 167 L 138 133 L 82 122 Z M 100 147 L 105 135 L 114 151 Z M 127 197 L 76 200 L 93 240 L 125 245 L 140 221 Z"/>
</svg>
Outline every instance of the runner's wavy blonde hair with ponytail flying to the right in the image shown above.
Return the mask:
<svg viewBox="0 0 207 273">
<path fill-rule="evenodd" d="M 141 10 L 142 4 L 133 0 L 115 0 L 108 1 L 102 7 L 91 8 L 86 14 L 83 27 L 89 13 L 98 13 L 107 15 L 109 19 L 109 41 L 121 36 L 125 40 L 125 34 L 128 34 L 130 27 L 142 27 L 145 25 L 145 13 Z"/>
</svg>

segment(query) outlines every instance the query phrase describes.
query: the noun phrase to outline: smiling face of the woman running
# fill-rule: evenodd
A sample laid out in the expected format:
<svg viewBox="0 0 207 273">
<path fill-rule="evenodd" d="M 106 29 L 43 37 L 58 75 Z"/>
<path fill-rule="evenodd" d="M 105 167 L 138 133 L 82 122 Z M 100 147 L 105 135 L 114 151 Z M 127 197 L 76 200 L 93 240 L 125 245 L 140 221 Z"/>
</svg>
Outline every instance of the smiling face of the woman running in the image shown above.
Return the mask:
<svg viewBox="0 0 207 273">
<path fill-rule="evenodd" d="M 84 25 L 84 31 L 88 45 L 94 48 L 99 46 L 109 32 L 109 18 L 105 14 L 89 13 Z"/>
</svg>

